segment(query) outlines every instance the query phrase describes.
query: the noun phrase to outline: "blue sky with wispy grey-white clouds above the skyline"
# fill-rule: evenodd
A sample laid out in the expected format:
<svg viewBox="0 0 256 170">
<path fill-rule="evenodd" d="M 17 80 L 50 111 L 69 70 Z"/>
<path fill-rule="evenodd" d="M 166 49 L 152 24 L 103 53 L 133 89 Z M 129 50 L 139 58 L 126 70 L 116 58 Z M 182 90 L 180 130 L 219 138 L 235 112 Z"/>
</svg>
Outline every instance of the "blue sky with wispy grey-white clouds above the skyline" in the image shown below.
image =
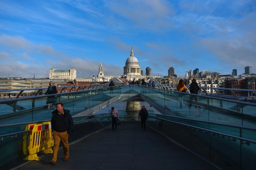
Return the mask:
<svg viewBox="0 0 256 170">
<path fill-rule="evenodd" d="M 1 0 L 0 77 L 123 75 L 131 46 L 141 70 L 256 73 L 255 0 Z"/>
</svg>

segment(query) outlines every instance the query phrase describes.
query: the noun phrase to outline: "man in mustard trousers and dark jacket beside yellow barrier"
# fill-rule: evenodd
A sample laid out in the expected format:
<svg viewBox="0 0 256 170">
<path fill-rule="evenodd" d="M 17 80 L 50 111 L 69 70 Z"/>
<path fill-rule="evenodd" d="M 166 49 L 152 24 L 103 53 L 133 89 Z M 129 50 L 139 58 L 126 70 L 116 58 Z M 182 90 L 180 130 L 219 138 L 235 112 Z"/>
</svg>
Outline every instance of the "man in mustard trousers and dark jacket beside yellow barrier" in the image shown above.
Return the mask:
<svg viewBox="0 0 256 170">
<path fill-rule="evenodd" d="M 63 144 L 64 159 L 68 160 L 69 158 L 69 145 L 68 145 L 68 136 L 72 132 L 74 127 L 74 122 L 72 116 L 69 113 L 69 110 L 63 109 L 63 103 L 56 104 L 56 110 L 52 112 L 52 135 L 54 139 L 53 145 L 53 156 L 51 163 L 56 164 L 58 150 L 60 145 L 60 140 Z"/>
</svg>

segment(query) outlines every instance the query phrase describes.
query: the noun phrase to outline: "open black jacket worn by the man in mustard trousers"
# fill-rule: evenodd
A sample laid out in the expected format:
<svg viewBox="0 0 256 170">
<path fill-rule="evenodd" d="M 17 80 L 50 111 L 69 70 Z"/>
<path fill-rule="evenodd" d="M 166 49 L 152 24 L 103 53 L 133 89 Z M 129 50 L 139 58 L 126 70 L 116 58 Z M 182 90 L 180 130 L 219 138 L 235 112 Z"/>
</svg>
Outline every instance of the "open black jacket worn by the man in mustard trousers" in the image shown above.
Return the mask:
<svg viewBox="0 0 256 170">
<path fill-rule="evenodd" d="M 73 118 L 70 115 L 69 110 L 63 109 L 63 111 L 64 111 L 64 120 L 65 120 L 66 126 L 68 127 L 68 134 L 70 134 L 74 128 Z M 57 109 L 52 112 L 52 120 L 51 120 L 52 131 L 54 130 L 54 127 L 55 127 L 55 118 L 57 114 L 58 114 Z"/>
</svg>

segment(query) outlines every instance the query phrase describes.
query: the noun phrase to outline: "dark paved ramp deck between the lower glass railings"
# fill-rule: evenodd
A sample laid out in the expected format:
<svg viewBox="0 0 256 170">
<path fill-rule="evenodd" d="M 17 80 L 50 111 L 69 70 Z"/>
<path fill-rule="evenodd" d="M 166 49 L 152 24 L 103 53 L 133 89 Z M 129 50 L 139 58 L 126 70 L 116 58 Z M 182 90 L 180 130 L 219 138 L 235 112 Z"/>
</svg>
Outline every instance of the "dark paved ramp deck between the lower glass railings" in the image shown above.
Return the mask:
<svg viewBox="0 0 256 170">
<path fill-rule="evenodd" d="M 56 165 L 52 155 L 20 169 L 216 169 L 140 122 L 121 122 L 116 131 L 107 128 L 70 145 L 70 159 L 59 151 Z"/>
</svg>

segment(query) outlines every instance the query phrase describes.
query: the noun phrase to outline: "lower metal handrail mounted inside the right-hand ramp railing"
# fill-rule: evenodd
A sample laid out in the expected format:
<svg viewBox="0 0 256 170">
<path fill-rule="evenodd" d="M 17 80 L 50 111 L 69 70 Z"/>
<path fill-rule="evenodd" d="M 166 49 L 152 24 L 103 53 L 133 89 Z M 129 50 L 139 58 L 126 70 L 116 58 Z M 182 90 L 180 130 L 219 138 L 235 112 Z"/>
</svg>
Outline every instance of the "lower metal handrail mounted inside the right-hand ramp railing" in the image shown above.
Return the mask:
<svg viewBox="0 0 256 170">
<path fill-rule="evenodd" d="M 255 141 L 255 140 L 251 140 L 251 139 L 247 139 L 247 138 L 243 138 L 243 137 L 237 137 L 237 136 L 233 136 L 233 135 L 228 135 L 228 134 L 226 134 L 226 133 L 217 132 L 217 131 L 215 131 L 215 130 L 199 128 L 199 127 L 197 127 L 197 126 L 188 125 L 188 124 L 181 123 L 181 122 L 176 122 L 176 121 L 171 121 L 171 120 L 168 120 L 168 119 L 159 118 L 159 117 L 155 117 L 155 116 L 149 116 L 149 117 L 152 117 L 152 118 L 155 118 L 155 119 L 164 120 L 164 121 L 167 121 L 167 122 L 177 123 L 177 124 L 180 124 L 180 125 L 183 125 L 183 126 L 187 126 L 187 127 L 193 128 L 193 129 L 200 129 L 200 130 L 202 130 L 202 131 L 204 130 L 205 132 L 212 132 L 213 134 L 219 134 L 219 135 L 223 135 L 223 136 L 227 136 L 227 137 L 232 137 L 234 140 L 235 140 L 235 139 L 240 139 L 240 140 L 242 140 L 242 141 L 252 142 L 252 143 L 256 144 L 256 141 Z"/>
</svg>

